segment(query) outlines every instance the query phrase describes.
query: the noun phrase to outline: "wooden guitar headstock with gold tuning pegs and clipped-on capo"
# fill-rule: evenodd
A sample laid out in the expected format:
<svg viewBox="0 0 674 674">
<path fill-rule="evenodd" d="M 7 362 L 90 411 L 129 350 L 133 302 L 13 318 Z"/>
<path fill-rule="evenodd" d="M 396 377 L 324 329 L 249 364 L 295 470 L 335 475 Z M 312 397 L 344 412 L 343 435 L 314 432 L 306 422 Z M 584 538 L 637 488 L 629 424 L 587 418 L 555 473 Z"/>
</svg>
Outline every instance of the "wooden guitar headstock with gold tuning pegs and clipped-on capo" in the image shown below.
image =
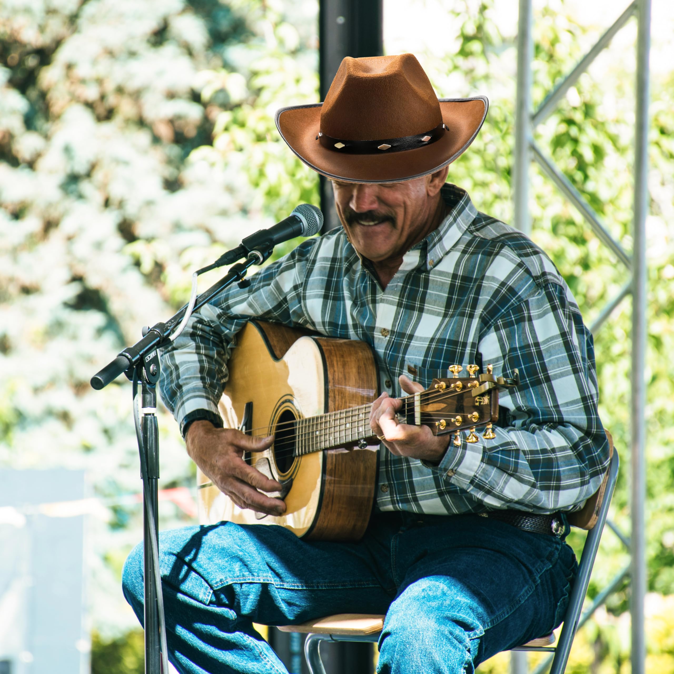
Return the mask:
<svg viewBox="0 0 674 674">
<path fill-rule="evenodd" d="M 461 444 L 460 431 L 468 430 L 467 442 L 477 442 L 475 430 L 485 426 L 483 438 L 492 439 L 492 424 L 499 418 L 499 389 L 518 386 L 520 375 L 495 377 L 491 365 L 487 372 L 478 374 L 477 365 L 468 365 L 468 377 L 459 377 L 461 365 L 448 368 L 453 377 L 433 379 L 431 388 L 413 396 L 415 423 L 431 428 L 433 435 L 454 433 L 454 444 Z"/>
</svg>

